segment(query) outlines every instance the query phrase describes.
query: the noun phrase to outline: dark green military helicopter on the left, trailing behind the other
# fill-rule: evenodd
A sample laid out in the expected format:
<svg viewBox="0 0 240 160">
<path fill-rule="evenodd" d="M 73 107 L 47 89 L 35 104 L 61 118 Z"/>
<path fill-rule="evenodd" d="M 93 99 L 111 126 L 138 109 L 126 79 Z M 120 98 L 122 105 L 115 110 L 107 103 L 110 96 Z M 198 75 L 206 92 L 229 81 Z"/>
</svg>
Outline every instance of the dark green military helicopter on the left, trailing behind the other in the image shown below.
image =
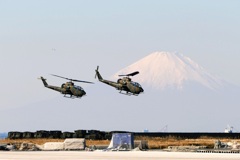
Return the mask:
<svg viewBox="0 0 240 160">
<path fill-rule="evenodd" d="M 81 98 L 82 96 L 86 95 L 86 92 L 83 90 L 83 88 L 80 86 L 74 85 L 73 82 L 93 83 L 93 82 L 81 81 L 77 79 L 65 78 L 58 75 L 54 75 L 54 74 L 52 74 L 52 76 L 69 80 L 69 82 L 63 83 L 61 87 L 58 87 L 58 86 L 48 85 L 48 83 L 46 82 L 46 79 L 43 77 L 40 77 L 39 79 L 42 80 L 46 88 L 58 91 L 61 94 L 64 94 L 64 97 L 67 97 L 67 98 Z M 69 97 L 66 95 L 69 95 Z"/>
</svg>

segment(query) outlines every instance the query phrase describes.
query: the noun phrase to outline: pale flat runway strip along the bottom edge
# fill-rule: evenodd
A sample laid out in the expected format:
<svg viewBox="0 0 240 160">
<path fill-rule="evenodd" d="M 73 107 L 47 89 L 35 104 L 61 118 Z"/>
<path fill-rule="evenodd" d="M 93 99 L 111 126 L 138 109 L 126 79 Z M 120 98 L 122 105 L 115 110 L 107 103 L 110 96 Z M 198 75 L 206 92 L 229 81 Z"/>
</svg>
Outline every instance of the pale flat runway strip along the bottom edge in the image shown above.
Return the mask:
<svg viewBox="0 0 240 160">
<path fill-rule="evenodd" d="M 240 154 L 187 153 L 161 151 L 85 152 L 85 151 L 6 151 L 0 160 L 239 160 Z"/>
</svg>

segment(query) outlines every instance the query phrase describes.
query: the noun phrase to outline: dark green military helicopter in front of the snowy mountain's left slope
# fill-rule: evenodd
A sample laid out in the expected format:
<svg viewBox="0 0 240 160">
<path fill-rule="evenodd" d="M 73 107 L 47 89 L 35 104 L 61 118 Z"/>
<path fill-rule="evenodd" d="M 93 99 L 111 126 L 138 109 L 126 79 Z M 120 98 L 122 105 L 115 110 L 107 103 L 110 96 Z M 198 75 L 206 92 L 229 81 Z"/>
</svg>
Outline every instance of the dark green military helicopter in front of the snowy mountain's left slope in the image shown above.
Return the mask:
<svg viewBox="0 0 240 160">
<path fill-rule="evenodd" d="M 98 80 L 100 82 L 110 85 L 112 87 L 115 87 L 117 90 L 120 90 L 119 93 L 122 93 L 122 91 L 126 91 L 126 93 L 122 93 L 122 94 L 137 96 L 140 93 L 144 92 L 143 88 L 139 83 L 133 82 L 131 78 L 129 78 L 130 76 L 135 76 L 139 74 L 138 71 L 130 74 L 126 74 L 126 75 L 119 75 L 119 77 L 122 77 L 122 78 L 119 78 L 117 82 L 113 82 L 113 81 L 103 79 L 98 69 L 99 69 L 99 66 L 97 66 L 97 69 L 95 70 L 96 71 L 95 78 L 98 77 Z"/>
</svg>

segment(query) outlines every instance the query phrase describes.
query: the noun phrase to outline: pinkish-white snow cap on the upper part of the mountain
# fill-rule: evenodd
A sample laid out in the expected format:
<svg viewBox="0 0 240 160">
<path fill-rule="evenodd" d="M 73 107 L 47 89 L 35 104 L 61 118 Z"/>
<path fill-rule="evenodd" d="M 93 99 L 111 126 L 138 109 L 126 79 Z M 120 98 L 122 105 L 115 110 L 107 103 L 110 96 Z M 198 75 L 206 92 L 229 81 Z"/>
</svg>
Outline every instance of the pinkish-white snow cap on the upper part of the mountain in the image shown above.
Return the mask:
<svg viewBox="0 0 240 160">
<path fill-rule="evenodd" d="M 224 86 L 223 81 L 208 73 L 203 67 L 182 54 L 154 52 L 134 64 L 118 71 L 120 74 L 139 71 L 134 81 L 157 89 L 183 89 L 186 83 L 197 83 L 211 90 Z"/>
</svg>

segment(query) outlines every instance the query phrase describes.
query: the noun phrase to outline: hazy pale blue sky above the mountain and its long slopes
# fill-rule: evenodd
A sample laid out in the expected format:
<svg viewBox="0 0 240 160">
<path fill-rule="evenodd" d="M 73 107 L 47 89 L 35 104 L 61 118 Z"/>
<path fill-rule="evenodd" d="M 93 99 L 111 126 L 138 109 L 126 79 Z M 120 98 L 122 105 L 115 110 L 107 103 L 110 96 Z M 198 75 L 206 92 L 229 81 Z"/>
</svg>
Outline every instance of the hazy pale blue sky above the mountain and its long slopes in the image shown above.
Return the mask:
<svg viewBox="0 0 240 160">
<path fill-rule="evenodd" d="M 240 85 L 238 0 L 0 0 L 0 110 L 55 97 L 38 77 L 109 77 L 154 51 L 178 52 Z M 87 85 L 82 84 L 83 87 Z"/>
</svg>

